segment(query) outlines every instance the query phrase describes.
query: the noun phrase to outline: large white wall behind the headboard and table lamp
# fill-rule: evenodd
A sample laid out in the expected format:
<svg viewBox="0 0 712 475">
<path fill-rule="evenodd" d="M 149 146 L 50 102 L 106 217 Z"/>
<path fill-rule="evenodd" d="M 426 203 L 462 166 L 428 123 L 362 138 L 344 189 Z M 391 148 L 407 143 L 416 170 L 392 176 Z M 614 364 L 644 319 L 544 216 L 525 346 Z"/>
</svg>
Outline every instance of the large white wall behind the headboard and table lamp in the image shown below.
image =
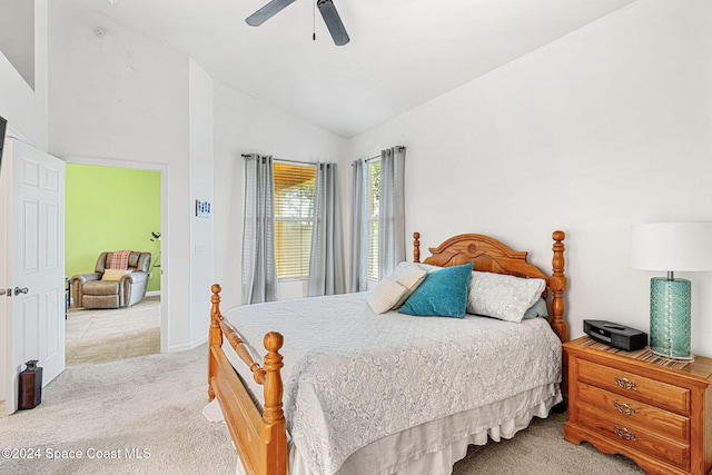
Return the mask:
<svg viewBox="0 0 712 475">
<path fill-rule="evenodd" d="M 712 220 L 712 2 L 642 0 L 352 139 L 408 147 L 406 225 L 423 247 L 483 232 L 551 269 L 566 231 L 572 337 L 583 319 L 649 330 L 630 227 Z M 425 254 L 427 255 L 427 254 Z M 712 356 L 712 273 L 693 281 Z"/>
</svg>

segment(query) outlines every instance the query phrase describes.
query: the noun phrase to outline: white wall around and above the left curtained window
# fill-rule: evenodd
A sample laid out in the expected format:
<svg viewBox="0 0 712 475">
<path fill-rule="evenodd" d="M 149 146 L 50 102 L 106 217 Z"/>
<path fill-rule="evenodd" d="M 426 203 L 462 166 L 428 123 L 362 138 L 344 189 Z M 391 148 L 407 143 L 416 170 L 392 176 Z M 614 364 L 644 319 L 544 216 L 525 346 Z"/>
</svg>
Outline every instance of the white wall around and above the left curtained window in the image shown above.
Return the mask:
<svg viewBox="0 0 712 475">
<path fill-rule="evenodd" d="M 241 155 L 253 152 L 289 160 L 342 164 L 347 156 L 347 142 L 332 132 L 216 82 L 215 270 L 216 283 L 222 286 L 224 309 L 241 300 L 245 198 Z M 350 176 L 347 165 L 339 165 L 338 172 L 342 178 Z M 301 281 L 280 286 L 280 298 L 301 296 L 306 296 Z"/>
</svg>

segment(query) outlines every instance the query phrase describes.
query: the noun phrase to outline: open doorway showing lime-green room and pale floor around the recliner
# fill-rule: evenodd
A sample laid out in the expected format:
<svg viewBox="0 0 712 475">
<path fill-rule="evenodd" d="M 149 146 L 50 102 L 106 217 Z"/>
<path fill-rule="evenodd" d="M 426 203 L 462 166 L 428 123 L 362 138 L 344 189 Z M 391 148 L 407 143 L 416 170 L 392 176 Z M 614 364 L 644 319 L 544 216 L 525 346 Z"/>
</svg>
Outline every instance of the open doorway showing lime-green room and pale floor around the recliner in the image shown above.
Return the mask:
<svg viewBox="0 0 712 475">
<path fill-rule="evenodd" d="M 66 161 L 67 278 L 93 273 L 102 251 L 151 253 L 147 293 L 138 304 L 85 309 L 68 301 L 67 366 L 160 353 L 167 327 L 160 305 L 167 294 L 160 266 L 167 169 L 87 157 Z"/>
</svg>

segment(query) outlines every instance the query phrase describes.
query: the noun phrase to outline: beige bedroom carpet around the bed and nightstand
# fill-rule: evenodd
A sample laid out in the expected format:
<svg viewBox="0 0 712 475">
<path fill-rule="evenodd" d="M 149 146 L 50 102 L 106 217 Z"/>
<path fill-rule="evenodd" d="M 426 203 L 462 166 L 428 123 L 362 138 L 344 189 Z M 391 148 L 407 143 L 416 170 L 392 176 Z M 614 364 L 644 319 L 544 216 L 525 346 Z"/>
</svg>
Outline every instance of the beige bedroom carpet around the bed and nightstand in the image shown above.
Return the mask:
<svg viewBox="0 0 712 475">
<path fill-rule="evenodd" d="M 201 414 L 207 403 L 206 362 L 204 345 L 67 368 L 43 389 L 41 405 L 0 417 L 2 448 L 39 454 L 34 459 L 0 458 L 0 473 L 234 474 L 236 456 L 227 428 Z M 471 447 L 454 474 L 643 473 L 624 457 L 566 443 L 565 418 L 552 414 L 534 419 L 511 441 Z M 56 451 L 66 456 L 75 451 L 82 458 L 49 459 Z"/>
</svg>

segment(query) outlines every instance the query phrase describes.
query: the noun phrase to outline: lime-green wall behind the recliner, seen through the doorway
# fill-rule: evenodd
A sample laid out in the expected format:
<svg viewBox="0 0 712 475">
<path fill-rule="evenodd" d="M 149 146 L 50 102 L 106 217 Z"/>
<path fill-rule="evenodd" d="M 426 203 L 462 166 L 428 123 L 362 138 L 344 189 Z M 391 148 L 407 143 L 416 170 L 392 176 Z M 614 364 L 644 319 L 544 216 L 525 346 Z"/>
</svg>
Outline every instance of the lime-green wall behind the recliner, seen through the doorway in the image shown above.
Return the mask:
<svg viewBox="0 0 712 475">
<path fill-rule="evenodd" d="M 66 274 L 93 271 L 105 250 L 151 253 L 158 263 L 160 243 L 160 172 L 68 164 L 65 178 Z M 155 268 L 148 290 L 160 290 Z"/>
</svg>

